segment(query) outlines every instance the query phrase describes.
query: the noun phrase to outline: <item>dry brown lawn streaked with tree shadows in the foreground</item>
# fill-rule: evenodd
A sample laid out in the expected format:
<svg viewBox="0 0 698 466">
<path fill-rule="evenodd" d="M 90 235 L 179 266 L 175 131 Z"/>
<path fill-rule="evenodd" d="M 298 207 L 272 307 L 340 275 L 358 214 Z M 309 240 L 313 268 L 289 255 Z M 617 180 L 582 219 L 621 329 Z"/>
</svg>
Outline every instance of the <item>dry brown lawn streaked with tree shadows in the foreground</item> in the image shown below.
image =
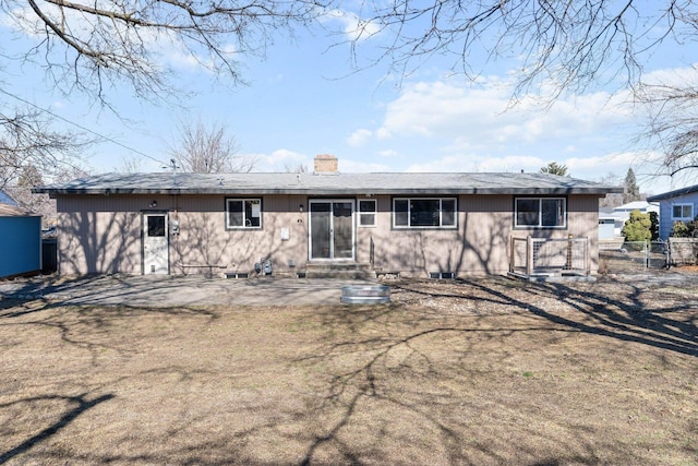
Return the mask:
<svg viewBox="0 0 698 466">
<path fill-rule="evenodd" d="M 393 303 L 0 301 L 0 464 L 698 463 L 698 296 L 394 284 Z"/>
</svg>

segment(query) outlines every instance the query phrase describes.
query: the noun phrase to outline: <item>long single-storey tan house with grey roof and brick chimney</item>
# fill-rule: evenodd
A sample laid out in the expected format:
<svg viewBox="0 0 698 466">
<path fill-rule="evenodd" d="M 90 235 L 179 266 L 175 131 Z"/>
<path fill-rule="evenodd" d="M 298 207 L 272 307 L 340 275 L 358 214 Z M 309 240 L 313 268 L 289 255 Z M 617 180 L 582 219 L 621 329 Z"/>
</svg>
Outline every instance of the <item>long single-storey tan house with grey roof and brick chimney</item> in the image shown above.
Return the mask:
<svg viewBox="0 0 698 466">
<path fill-rule="evenodd" d="M 622 192 L 547 174 L 99 175 L 35 192 L 57 200 L 62 274 L 253 272 L 365 264 L 412 276 L 504 274 L 512 237 L 589 238 L 599 198 Z"/>
</svg>

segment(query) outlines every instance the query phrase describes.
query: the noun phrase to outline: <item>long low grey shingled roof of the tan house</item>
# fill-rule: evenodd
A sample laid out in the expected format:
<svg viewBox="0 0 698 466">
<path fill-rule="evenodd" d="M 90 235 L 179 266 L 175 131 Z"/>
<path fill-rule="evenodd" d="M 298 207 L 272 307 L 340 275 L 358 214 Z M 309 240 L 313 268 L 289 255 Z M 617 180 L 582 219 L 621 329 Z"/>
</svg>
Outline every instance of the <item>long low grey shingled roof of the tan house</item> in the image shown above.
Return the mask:
<svg viewBox="0 0 698 466">
<path fill-rule="evenodd" d="M 622 187 L 550 174 L 104 174 L 32 190 L 63 194 L 562 195 L 622 193 Z"/>
</svg>

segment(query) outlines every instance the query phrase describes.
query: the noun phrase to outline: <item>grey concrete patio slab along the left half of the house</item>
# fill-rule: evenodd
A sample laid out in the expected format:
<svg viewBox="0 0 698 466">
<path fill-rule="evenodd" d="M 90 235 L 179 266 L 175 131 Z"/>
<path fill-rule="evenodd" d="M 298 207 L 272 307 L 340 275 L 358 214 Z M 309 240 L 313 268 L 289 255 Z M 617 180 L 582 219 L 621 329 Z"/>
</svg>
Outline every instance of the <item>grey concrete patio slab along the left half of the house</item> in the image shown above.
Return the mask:
<svg viewBox="0 0 698 466">
<path fill-rule="evenodd" d="M 0 282 L 0 299 L 134 307 L 314 306 L 338 304 L 342 286 L 371 283 L 375 282 L 276 277 L 227 279 L 203 275 L 35 277 Z"/>
</svg>

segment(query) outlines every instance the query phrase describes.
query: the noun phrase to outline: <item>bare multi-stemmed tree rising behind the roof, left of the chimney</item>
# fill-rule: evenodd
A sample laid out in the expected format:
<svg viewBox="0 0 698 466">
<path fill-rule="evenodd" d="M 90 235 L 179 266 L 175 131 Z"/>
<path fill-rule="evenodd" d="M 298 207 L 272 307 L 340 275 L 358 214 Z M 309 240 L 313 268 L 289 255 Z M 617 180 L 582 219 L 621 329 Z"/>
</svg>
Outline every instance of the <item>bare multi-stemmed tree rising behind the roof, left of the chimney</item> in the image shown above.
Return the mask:
<svg viewBox="0 0 698 466">
<path fill-rule="evenodd" d="M 256 164 L 254 157 L 238 155 L 238 144 L 224 124 L 214 123 L 207 128 L 201 121 L 181 122 L 178 129 L 180 140 L 170 147 L 170 154 L 185 172 L 249 172 Z"/>
</svg>

